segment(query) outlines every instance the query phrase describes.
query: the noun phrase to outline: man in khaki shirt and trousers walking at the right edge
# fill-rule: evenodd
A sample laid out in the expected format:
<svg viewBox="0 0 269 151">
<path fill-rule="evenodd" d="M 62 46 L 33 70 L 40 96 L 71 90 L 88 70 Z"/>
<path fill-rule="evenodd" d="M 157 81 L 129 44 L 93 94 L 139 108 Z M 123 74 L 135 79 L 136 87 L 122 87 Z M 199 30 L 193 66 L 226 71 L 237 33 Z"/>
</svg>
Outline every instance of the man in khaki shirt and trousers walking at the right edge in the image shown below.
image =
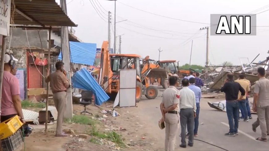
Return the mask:
<svg viewBox="0 0 269 151">
<path fill-rule="evenodd" d="M 265 69 L 258 68 L 259 80 L 254 87 L 253 111 L 257 111 L 262 137 L 256 138 L 258 141 L 267 141 L 267 131 L 269 130 L 269 80 L 265 78 Z"/>
</svg>

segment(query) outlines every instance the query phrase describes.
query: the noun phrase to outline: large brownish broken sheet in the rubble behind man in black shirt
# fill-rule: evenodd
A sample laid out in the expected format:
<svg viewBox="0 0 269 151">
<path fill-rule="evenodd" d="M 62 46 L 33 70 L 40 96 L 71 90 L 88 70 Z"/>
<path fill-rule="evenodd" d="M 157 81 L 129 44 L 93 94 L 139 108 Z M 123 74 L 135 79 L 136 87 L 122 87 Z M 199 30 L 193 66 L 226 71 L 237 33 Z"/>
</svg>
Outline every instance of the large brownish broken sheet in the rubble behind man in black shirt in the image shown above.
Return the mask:
<svg viewBox="0 0 269 151">
<path fill-rule="evenodd" d="M 216 79 L 214 79 L 214 83 L 209 85 L 210 89 L 214 89 L 214 90 L 220 90 L 220 88 L 222 87 L 222 85 L 224 84 L 224 79 L 227 77 L 227 74 L 231 73 L 231 72 L 227 72 L 227 71 L 223 71 L 222 73 L 220 73 Z M 237 80 L 239 77 L 240 73 L 233 73 L 234 74 L 234 78 L 233 80 Z M 258 81 L 258 76 L 253 75 L 253 74 L 246 74 L 246 79 L 248 79 L 251 83 L 251 85 L 253 85 L 256 81 Z"/>
</svg>

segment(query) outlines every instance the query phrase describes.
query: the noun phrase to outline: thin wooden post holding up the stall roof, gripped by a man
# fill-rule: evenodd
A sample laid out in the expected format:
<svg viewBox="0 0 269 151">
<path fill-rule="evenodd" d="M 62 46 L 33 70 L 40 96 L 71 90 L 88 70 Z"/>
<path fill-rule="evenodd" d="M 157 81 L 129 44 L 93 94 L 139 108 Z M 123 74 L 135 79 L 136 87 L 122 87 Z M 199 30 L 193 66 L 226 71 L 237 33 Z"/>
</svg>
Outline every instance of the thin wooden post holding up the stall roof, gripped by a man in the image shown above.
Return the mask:
<svg viewBox="0 0 269 151">
<path fill-rule="evenodd" d="M 49 48 L 48 48 L 48 72 L 50 72 L 50 32 L 51 27 L 49 28 Z M 46 120 L 45 120 L 45 132 L 48 129 L 48 105 L 49 105 L 49 82 L 47 83 L 47 99 L 46 99 Z"/>
</svg>

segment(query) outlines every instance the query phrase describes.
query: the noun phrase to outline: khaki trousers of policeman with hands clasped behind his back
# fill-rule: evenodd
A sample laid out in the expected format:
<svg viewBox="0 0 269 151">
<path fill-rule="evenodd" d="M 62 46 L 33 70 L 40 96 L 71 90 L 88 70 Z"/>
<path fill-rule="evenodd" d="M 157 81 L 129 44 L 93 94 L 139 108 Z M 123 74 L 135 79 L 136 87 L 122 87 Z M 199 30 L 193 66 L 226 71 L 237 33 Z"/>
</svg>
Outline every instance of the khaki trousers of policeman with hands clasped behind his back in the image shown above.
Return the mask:
<svg viewBox="0 0 269 151">
<path fill-rule="evenodd" d="M 178 114 L 165 114 L 165 141 L 164 150 L 174 151 L 176 145 L 177 131 L 179 129 Z"/>
</svg>

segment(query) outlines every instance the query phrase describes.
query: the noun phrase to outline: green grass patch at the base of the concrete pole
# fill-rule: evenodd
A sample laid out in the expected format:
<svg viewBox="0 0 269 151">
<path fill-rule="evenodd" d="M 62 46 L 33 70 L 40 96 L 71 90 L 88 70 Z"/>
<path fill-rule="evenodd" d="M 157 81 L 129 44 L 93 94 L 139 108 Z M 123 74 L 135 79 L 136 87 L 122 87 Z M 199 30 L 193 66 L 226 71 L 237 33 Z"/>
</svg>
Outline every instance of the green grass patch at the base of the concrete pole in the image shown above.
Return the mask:
<svg viewBox="0 0 269 151">
<path fill-rule="evenodd" d="M 72 119 L 65 119 L 65 122 L 85 124 L 85 125 L 94 125 L 96 123 L 95 120 L 92 120 L 89 116 L 85 115 L 74 115 Z"/>
</svg>

